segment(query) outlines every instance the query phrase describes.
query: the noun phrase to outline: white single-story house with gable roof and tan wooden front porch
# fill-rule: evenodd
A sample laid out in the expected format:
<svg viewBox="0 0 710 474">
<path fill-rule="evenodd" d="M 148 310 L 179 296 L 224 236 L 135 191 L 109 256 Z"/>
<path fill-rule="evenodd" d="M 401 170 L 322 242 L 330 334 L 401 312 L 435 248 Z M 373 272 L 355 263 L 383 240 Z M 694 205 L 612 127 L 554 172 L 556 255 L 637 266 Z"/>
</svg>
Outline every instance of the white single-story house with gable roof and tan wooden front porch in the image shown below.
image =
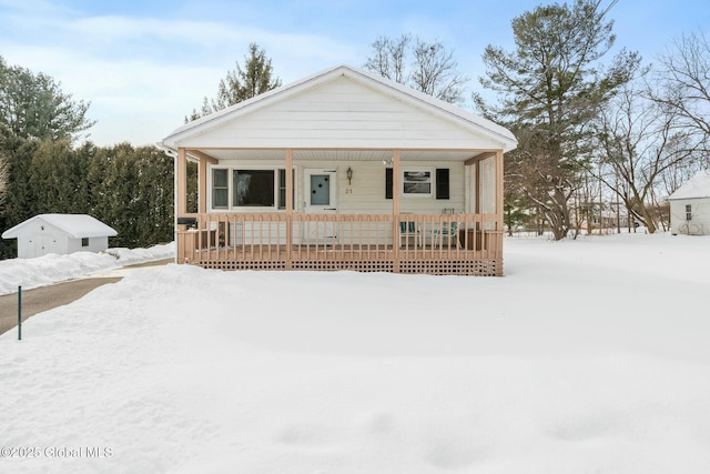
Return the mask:
<svg viewBox="0 0 710 474">
<path fill-rule="evenodd" d="M 503 155 L 516 138 L 382 77 L 334 67 L 159 145 L 175 158 L 178 263 L 503 274 Z"/>
</svg>

